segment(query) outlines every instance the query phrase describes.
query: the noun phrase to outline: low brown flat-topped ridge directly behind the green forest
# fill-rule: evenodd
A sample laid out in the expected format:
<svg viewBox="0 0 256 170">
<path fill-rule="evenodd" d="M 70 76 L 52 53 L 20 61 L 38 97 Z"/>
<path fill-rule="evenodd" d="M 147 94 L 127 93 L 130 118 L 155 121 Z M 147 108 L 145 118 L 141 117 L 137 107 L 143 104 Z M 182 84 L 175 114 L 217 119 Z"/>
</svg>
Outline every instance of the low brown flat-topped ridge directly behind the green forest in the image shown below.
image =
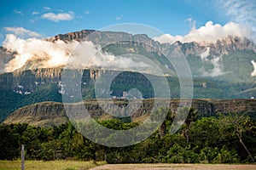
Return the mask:
<svg viewBox="0 0 256 170">
<path fill-rule="evenodd" d="M 177 113 L 177 105 L 179 99 L 158 99 L 160 102 L 169 102 L 172 112 Z M 127 101 L 119 100 L 119 105 L 125 105 Z M 103 102 L 103 108 L 112 111 L 113 105 L 106 100 Z M 132 112 L 132 122 L 145 121 L 150 115 L 154 105 L 154 99 L 144 99 L 143 104 L 140 105 L 137 111 Z M 251 113 L 255 114 L 256 99 L 194 99 L 192 102 L 194 107 L 199 112 L 199 117 L 202 116 L 216 116 L 218 113 Z M 84 101 L 84 108 L 86 108 L 90 115 L 94 118 L 104 120 L 112 118 L 102 107 L 98 104 L 96 99 Z M 130 100 L 130 107 L 127 110 L 133 111 L 133 108 L 138 108 L 137 100 Z M 130 111 L 130 112 L 131 112 Z M 129 112 L 129 111 L 128 111 Z M 49 127 L 59 126 L 68 121 L 65 109 L 62 103 L 58 102 L 42 102 L 34 105 L 27 105 L 9 115 L 3 123 L 29 123 L 33 126 Z"/>
</svg>

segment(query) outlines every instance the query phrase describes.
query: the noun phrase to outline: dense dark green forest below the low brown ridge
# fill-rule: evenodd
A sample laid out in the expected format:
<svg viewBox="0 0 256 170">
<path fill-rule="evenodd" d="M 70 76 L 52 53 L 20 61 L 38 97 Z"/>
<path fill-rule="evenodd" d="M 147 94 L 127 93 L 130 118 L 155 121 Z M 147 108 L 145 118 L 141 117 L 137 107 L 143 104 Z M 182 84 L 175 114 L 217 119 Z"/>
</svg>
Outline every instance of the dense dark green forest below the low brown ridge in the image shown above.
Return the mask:
<svg viewBox="0 0 256 170">
<path fill-rule="evenodd" d="M 163 111 L 168 108 L 160 108 Z M 72 122 L 59 127 L 28 124 L 0 125 L 0 159 L 20 159 L 25 144 L 26 160 L 83 160 L 108 163 L 252 163 L 256 159 L 256 121 L 249 114 L 218 114 L 198 118 L 195 109 L 183 127 L 170 134 L 174 115 L 148 139 L 126 147 L 107 147 L 84 138 Z M 127 119 L 126 119 L 127 120 Z M 99 121 L 98 121 L 99 122 Z M 126 130 L 141 122 L 109 119 L 102 126 Z M 113 141 L 114 142 L 114 141 Z"/>
</svg>

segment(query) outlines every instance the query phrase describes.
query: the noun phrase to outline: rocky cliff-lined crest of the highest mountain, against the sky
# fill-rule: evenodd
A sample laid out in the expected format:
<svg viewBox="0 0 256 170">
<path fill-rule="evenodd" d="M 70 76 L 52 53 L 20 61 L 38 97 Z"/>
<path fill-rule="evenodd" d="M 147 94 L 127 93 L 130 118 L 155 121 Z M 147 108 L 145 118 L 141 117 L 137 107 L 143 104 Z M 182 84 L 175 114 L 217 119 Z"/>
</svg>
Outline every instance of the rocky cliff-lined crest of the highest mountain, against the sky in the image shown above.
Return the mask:
<svg viewBox="0 0 256 170">
<path fill-rule="evenodd" d="M 90 34 L 93 34 L 93 36 L 90 37 Z M 96 35 L 94 35 L 96 34 Z M 109 35 L 108 35 L 109 34 Z M 118 35 L 118 36 L 116 36 Z M 93 39 L 92 37 L 97 36 L 96 39 Z M 107 38 L 104 36 L 107 36 Z M 143 40 L 147 42 L 150 45 L 156 45 L 160 46 L 162 44 L 164 47 L 167 47 L 168 45 L 174 45 L 174 46 L 184 46 L 183 52 L 185 52 L 186 55 L 189 53 L 186 51 L 190 50 L 191 47 L 195 48 L 212 48 L 212 51 L 218 51 L 218 54 L 226 54 L 229 52 L 231 49 L 232 50 L 244 50 L 244 49 L 253 49 L 253 52 L 256 53 L 256 46 L 255 44 L 250 41 L 247 37 L 224 37 L 223 39 L 219 39 L 217 42 L 165 42 L 165 43 L 160 43 L 154 38 L 148 37 L 146 34 L 135 34 L 132 35 L 131 33 L 127 32 L 121 32 L 121 31 L 96 31 L 96 30 L 83 30 L 83 31 L 75 31 L 75 32 L 69 32 L 67 34 L 59 34 L 55 36 L 54 38 L 50 38 L 50 41 L 57 41 L 57 40 L 62 40 L 65 42 L 69 41 L 92 41 L 99 43 L 102 41 L 103 43 L 108 40 L 110 42 L 121 42 L 123 40 L 126 41 L 134 41 L 136 42 L 137 40 Z M 139 42 L 139 41 L 138 41 Z M 195 48 L 193 49 L 195 51 Z M 226 49 L 225 49 L 226 48 Z M 214 50 L 215 49 L 215 50 Z M 150 51 L 152 52 L 152 51 Z"/>
</svg>

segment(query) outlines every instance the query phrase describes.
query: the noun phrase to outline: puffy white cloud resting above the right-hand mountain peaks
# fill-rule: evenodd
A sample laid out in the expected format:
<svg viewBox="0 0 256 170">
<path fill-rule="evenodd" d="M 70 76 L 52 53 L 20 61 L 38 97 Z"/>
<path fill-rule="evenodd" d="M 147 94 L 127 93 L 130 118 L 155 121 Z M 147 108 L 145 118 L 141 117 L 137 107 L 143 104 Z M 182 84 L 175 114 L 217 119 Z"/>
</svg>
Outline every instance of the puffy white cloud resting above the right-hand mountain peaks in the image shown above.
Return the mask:
<svg viewBox="0 0 256 170">
<path fill-rule="evenodd" d="M 191 21 L 190 21 L 191 22 Z M 154 37 L 154 40 L 164 42 L 217 42 L 218 39 L 223 39 L 228 36 L 236 37 L 250 37 L 251 31 L 246 27 L 243 27 L 234 22 L 229 22 L 224 26 L 219 24 L 213 24 L 212 21 L 208 21 L 205 26 L 201 26 L 196 29 L 193 24 L 191 31 L 185 36 L 172 36 L 170 34 L 164 34 L 160 37 Z"/>
</svg>

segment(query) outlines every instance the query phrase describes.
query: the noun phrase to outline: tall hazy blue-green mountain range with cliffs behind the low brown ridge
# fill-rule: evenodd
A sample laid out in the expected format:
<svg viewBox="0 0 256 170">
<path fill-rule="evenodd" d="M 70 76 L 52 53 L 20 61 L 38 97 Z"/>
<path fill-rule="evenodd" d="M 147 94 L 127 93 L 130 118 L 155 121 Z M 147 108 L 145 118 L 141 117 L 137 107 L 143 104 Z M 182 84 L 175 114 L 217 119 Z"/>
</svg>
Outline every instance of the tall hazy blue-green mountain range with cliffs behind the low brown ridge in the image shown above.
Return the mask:
<svg viewBox="0 0 256 170">
<path fill-rule="evenodd" d="M 246 37 L 226 37 L 212 43 L 174 42 L 170 44 L 157 42 L 145 34 L 131 35 L 126 32 L 84 30 L 60 34 L 47 38 L 45 41 L 55 43 L 60 40 L 65 43 L 91 41 L 101 45 L 103 53 L 116 56 L 115 59 L 127 53 L 145 56 L 159 65 L 161 71 L 164 72 L 173 99 L 180 97 L 179 81 L 172 63 L 161 52 L 179 49 L 189 62 L 194 83 L 194 99 L 245 99 L 244 102 L 236 102 L 236 104 L 254 105 L 252 102 L 256 97 L 256 74 L 254 73 L 256 46 Z M 2 61 L 0 65 L 2 68 L 0 75 L 1 122 L 12 113 L 20 119 L 20 111 L 23 114 L 28 111 L 27 109 L 22 110 L 24 106 L 32 105 L 34 107 L 34 105 L 41 105 L 38 103 L 45 101 L 56 105 L 54 102 L 62 101 L 61 72 L 63 66 L 44 67 L 40 65 L 42 60 L 28 59 L 25 65 L 19 69 L 4 72 L 5 64 L 14 59 L 15 54 L 17 52 L 0 48 Z M 83 98 L 95 99 L 94 86 L 97 78 L 114 74 L 115 71 L 106 71 L 101 66 L 84 68 L 81 80 Z M 160 79 L 160 76 L 155 75 L 154 72 L 147 71 L 144 74 L 153 77 L 154 80 Z M 150 82 L 136 71 L 125 71 L 119 74 L 114 81 L 111 86 L 111 95 L 114 97 L 122 98 L 124 92 L 128 92 L 131 88 L 139 89 L 142 93 L 141 97 L 144 99 L 154 97 L 154 89 Z M 226 103 L 230 104 L 229 101 Z M 42 107 L 44 105 L 42 103 Z M 231 107 L 229 108 L 231 111 Z M 44 109 L 40 111 L 44 111 Z M 32 114 L 31 111 L 29 113 Z M 15 116 L 12 115 L 12 117 Z"/>
</svg>

